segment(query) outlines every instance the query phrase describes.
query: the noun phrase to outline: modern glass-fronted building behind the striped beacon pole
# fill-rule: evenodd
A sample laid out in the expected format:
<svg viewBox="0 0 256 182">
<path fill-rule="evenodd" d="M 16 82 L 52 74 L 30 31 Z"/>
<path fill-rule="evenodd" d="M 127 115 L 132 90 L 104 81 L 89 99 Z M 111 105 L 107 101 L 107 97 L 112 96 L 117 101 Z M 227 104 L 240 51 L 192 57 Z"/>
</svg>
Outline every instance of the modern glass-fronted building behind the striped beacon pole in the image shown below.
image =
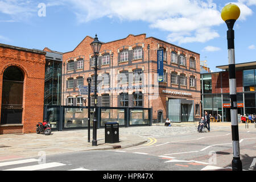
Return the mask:
<svg viewBox="0 0 256 182">
<path fill-rule="evenodd" d="M 221 72 L 201 73 L 201 108 L 218 121 L 230 122 L 228 65 Z M 236 64 L 238 114 L 256 114 L 256 61 Z"/>
</svg>

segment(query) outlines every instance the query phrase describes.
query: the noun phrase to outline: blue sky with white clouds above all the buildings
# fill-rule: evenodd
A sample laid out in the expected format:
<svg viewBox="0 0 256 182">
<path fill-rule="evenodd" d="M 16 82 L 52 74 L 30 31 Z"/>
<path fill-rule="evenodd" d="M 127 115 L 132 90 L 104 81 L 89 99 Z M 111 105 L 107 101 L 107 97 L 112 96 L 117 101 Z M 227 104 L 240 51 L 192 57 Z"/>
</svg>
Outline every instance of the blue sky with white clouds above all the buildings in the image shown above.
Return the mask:
<svg viewBox="0 0 256 182">
<path fill-rule="evenodd" d="M 228 64 L 221 10 L 240 7 L 236 63 L 256 61 L 256 0 L 0 0 L 0 43 L 68 52 L 89 35 L 101 42 L 146 34 L 193 52 L 214 72 Z"/>
</svg>

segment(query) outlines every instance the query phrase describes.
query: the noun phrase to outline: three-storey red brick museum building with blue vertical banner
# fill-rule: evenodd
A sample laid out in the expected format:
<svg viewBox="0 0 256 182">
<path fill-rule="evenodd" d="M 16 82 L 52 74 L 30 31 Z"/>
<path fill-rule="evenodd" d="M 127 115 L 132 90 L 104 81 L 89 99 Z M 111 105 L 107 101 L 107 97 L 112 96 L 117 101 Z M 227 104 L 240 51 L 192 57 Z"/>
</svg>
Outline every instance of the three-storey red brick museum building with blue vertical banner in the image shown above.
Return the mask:
<svg viewBox="0 0 256 182">
<path fill-rule="evenodd" d="M 79 106 L 86 98 L 79 85 L 94 77 L 92 42 L 86 36 L 63 53 L 63 105 Z M 158 49 L 164 51 L 164 82 L 157 81 Z M 152 107 L 154 122 L 193 121 L 201 114 L 199 53 L 146 34 L 129 35 L 102 45 L 98 67 L 98 106 Z"/>
</svg>

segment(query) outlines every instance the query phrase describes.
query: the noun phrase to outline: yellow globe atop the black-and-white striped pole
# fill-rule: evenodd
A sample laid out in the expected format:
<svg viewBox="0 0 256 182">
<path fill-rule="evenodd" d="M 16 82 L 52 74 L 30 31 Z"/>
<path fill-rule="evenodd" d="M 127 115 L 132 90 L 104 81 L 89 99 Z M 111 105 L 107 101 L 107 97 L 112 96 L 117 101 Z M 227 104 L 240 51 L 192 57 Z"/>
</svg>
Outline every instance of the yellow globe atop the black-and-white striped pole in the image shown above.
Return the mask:
<svg viewBox="0 0 256 182">
<path fill-rule="evenodd" d="M 237 20 L 239 16 L 240 16 L 239 7 L 232 3 L 226 5 L 221 11 L 221 18 L 224 20 L 224 22 L 230 19 Z"/>
</svg>

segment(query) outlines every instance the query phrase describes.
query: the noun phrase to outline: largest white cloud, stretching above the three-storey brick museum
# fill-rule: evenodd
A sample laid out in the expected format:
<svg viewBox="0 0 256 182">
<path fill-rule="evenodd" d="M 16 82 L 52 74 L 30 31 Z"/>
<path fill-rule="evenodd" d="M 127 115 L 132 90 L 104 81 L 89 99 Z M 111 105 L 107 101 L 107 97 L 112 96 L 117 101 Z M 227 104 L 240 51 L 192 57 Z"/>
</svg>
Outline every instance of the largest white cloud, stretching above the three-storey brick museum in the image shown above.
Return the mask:
<svg viewBox="0 0 256 182">
<path fill-rule="evenodd" d="M 212 0 L 70 0 L 80 23 L 108 17 L 142 20 L 151 28 L 170 32 L 168 40 L 190 43 L 207 42 L 219 37 L 212 29 L 224 23 Z"/>
</svg>

